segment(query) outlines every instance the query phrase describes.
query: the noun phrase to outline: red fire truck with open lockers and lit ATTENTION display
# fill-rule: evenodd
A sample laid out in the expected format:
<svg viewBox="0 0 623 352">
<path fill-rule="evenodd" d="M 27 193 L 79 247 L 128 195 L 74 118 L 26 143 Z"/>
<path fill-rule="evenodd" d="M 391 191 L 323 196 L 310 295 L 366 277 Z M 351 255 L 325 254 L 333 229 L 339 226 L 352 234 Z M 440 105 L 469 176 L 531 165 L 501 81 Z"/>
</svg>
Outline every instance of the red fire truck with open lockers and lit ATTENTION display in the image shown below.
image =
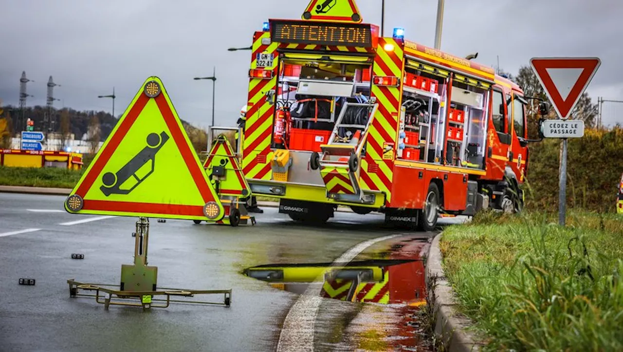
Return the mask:
<svg viewBox="0 0 623 352">
<path fill-rule="evenodd" d="M 297 221 L 342 205 L 426 231 L 441 212 L 521 210 L 518 85 L 402 29 L 381 37 L 359 15 L 318 17 L 272 19 L 253 36 L 242 151 L 252 193 L 280 198 Z"/>
</svg>

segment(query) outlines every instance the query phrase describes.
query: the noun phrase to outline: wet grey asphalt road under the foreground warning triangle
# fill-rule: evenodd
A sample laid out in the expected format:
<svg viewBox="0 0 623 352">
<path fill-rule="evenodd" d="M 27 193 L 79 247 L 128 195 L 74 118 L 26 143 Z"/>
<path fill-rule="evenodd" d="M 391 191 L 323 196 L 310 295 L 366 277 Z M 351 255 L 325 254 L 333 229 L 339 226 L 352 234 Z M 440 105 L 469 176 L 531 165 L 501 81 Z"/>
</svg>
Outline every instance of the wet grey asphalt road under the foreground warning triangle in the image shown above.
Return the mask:
<svg viewBox="0 0 623 352">
<path fill-rule="evenodd" d="M 136 219 L 67 214 L 63 201 L 0 193 L 0 351 L 274 351 L 298 296 L 246 277 L 243 269 L 333 262 L 365 240 L 404 234 L 426 241 L 432 235 L 383 229 L 380 214 L 339 212 L 324 226 L 303 226 L 275 208 L 256 214 L 254 227 L 151 219 L 148 262 L 158 267 L 158 287 L 232 288 L 231 307 L 105 311 L 94 300 L 70 298 L 67 279 L 118 284 L 120 265 L 133 262 Z M 90 219 L 95 220 L 76 223 Z M 31 231 L 12 234 L 23 230 Z M 374 250 L 362 255 L 370 257 Z M 70 259 L 72 253 L 85 259 Z M 35 278 L 36 285 L 18 285 L 22 277 Z M 352 350 L 349 325 L 361 307 L 327 301 L 318 313 L 319 327 L 350 318 L 338 338 L 316 334 L 316 348 Z"/>
</svg>

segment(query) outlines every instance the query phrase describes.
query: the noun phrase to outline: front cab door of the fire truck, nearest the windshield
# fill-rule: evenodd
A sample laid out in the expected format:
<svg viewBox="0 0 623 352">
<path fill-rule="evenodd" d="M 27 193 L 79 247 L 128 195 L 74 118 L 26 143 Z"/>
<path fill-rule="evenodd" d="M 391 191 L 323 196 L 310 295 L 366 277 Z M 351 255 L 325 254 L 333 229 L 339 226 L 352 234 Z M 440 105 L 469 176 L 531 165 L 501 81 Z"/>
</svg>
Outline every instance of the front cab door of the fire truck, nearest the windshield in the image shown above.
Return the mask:
<svg viewBox="0 0 623 352">
<path fill-rule="evenodd" d="M 521 98 L 521 95 L 513 92 L 513 109 L 511 115 L 513 121 L 513 138 L 508 163 L 515 172 L 520 183 L 523 183 L 523 179 L 525 178 L 526 161 L 528 160 L 528 143 L 525 142 L 527 134 L 525 105 L 526 102 Z"/>
</svg>

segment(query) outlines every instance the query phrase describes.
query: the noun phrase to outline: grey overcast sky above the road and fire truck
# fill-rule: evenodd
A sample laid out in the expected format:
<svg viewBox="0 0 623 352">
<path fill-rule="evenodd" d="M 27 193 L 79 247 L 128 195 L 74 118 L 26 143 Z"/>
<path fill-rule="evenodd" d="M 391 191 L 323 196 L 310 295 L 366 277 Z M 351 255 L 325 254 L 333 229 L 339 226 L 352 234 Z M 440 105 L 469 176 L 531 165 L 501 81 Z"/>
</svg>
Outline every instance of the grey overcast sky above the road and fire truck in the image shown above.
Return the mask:
<svg viewBox="0 0 623 352">
<path fill-rule="evenodd" d="M 159 76 L 181 118 L 209 125 L 212 83 L 194 81 L 216 66 L 216 124 L 234 125 L 247 100 L 251 44 L 269 18 L 300 18 L 308 0 L 0 0 L 0 98 L 17 105 L 26 71 L 27 105 L 44 105 L 50 75 L 55 107 L 112 110 L 130 103 L 145 78 Z M 381 0 L 359 0 L 364 22 L 380 24 Z M 386 0 L 386 35 L 434 46 L 436 0 Z M 597 56 L 589 85 L 623 100 L 623 1 L 446 0 L 441 49 L 515 74 L 534 56 Z M 623 103 L 604 103 L 604 123 L 623 122 Z"/>
</svg>

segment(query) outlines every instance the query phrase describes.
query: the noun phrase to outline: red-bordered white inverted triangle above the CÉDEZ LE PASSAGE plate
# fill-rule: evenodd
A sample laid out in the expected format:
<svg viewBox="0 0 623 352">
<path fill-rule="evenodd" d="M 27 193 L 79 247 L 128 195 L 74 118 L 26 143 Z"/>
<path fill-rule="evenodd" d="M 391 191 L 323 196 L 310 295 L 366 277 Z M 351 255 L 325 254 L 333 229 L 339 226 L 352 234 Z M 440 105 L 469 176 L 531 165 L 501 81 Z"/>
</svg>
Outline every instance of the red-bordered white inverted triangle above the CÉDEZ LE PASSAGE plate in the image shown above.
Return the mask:
<svg viewBox="0 0 623 352">
<path fill-rule="evenodd" d="M 595 75 L 597 57 L 533 57 L 530 65 L 554 105 L 558 117 L 566 119 Z"/>
</svg>

